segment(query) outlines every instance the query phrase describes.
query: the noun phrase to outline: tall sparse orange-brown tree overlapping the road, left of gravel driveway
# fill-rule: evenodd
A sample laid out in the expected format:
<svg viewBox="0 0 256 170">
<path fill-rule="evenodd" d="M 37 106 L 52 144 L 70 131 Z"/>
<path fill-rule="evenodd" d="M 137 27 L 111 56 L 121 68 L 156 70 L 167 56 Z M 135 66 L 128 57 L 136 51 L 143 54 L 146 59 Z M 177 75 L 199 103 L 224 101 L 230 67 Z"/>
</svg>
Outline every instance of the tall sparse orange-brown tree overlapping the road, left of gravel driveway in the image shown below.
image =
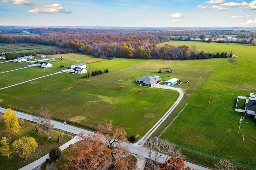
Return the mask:
<svg viewBox="0 0 256 170">
<path fill-rule="evenodd" d="M 98 130 L 105 136 L 106 144 L 111 149 L 112 161 L 123 158 L 125 154 L 129 154 L 128 147 L 123 147 L 122 142 L 128 142 L 126 131 L 123 127 L 114 128 L 112 121 L 104 120 L 98 125 Z"/>
</svg>

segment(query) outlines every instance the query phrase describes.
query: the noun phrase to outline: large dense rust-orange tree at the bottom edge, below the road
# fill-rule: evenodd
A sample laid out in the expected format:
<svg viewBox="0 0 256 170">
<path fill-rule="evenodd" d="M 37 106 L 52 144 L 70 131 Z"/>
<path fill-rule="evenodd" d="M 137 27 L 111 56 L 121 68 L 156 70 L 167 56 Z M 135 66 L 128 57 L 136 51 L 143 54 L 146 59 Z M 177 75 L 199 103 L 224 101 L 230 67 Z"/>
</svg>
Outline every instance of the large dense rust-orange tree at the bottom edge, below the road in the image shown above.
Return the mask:
<svg viewBox="0 0 256 170">
<path fill-rule="evenodd" d="M 63 170 L 96 170 L 99 166 L 108 166 L 111 150 L 102 135 L 80 133 L 79 138 L 80 141 L 72 145 L 70 152 L 65 155 L 69 162 L 63 166 Z"/>
</svg>

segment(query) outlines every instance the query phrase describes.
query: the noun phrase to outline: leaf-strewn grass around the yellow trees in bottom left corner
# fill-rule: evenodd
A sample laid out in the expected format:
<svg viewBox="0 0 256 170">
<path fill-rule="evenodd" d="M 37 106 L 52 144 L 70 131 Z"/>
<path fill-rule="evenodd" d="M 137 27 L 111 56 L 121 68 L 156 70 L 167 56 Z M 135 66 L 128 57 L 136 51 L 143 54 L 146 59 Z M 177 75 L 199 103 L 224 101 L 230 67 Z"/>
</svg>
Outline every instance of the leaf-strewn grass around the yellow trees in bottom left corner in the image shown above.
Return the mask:
<svg viewBox="0 0 256 170">
<path fill-rule="evenodd" d="M 42 156 L 48 154 L 50 152 L 50 149 L 53 147 L 60 147 L 67 141 L 71 139 L 71 135 L 69 136 L 65 133 L 62 138 L 60 138 L 60 143 L 58 143 L 57 139 L 57 130 L 52 130 L 50 133 L 51 138 L 47 139 L 47 133 L 39 131 L 38 134 L 34 134 L 34 128 L 32 127 L 34 123 L 31 123 L 29 121 L 24 121 L 22 124 L 22 127 L 18 134 L 13 135 L 10 143 L 13 143 L 16 139 L 18 140 L 22 136 L 29 135 L 30 137 L 34 137 L 36 139 L 36 142 L 38 143 L 38 149 L 35 153 L 31 154 L 28 158 L 28 160 L 24 161 L 18 156 L 16 156 L 14 153 L 10 154 L 10 158 L 8 156 L 2 156 L 0 154 L 0 169 L 1 170 L 18 170 L 19 168 L 22 168 L 23 166 L 26 166 L 27 164 L 30 164 L 31 162 L 34 162 L 38 158 L 41 158 Z M 0 123 L 0 131 L 3 131 L 5 129 L 4 123 Z"/>
</svg>

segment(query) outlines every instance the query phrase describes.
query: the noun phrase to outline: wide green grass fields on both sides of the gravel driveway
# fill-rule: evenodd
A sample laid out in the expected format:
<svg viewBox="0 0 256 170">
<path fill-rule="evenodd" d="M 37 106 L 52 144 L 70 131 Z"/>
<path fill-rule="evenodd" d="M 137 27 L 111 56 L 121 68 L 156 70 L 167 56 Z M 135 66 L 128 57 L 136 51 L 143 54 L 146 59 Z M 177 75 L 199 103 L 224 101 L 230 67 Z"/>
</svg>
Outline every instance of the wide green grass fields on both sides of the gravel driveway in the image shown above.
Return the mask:
<svg viewBox="0 0 256 170">
<path fill-rule="evenodd" d="M 22 72 L 1 74 L 0 88 L 57 72 L 63 69 L 59 68 L 61 64 L 66 68 L 70 64 L 84 62 L 89 63 L 88 72 L 106 68 L 110 72 L 88 79 L 83 79 L 83 75 L 61 73 L 7 88 L 1 90 L 0 105 L 30 113 L 35 113 L 41 105 L 49 106 L 54 118 L 90 128 L 95 128 L 104 119 L 110 119 L 115 126 L 125 127 L 128 136 L 139 134 L 142 137 L 172 106 L 178 93 L 140 87 L 135 79 L 144 75 L 160 75 L 164 81 L 174 77 L 182 82 L 189 80 L 188 84 L 174 85 L 182 88 L 185 96 L 153 136 L 158 136 L 188 104 L 162 138 L 188 149 L 256 167 L 256 123 L 254 119 L 246 117 L 238 135 L 238 122 L 243 114 L 234 111 L 236 98 L 243 95 L 244 87 L 244 95 L 255 93 L 256 47 L 192 41 L 168 43 L 189 47 L 195 44 L 198 51 L 210 53 L 232 51 L 238 58 L 189 61 L 112 59 L 87 62 L 89 59 L 86 56 L 69 54 L 69 57 L 63 56 L 64 60 L 52 62 L 54 66 L 47 68 L 46 73 L 42 68 L 26 68 Z M 50 57 L 58 59 L 60 55 Z M 5 63 L 0 64 L 2 66 Z M 164 67 L 174 68 L 175 74 L 166 73 Z M 158 73 L 159 69 L 162 73 Z M 124 88 L 121 90 L 119 86 Z M 138 93 L 138 89 L 142 92 Z M 245 142 L 242 141 L 242 135 Z M 191 156 L 188 160 L 200 162 Z"/>
</svg>

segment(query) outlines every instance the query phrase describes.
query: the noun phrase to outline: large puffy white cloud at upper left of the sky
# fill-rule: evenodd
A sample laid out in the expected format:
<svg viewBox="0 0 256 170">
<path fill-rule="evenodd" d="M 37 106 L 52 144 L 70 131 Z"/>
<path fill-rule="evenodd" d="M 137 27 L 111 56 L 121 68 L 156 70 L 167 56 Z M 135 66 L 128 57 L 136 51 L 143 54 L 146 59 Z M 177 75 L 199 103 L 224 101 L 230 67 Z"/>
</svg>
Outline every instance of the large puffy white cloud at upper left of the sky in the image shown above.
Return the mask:
<svg viewBox="0 0 256 170">
<path fill-rule="evenodd" d="M 45 5 L 41 8 L 35 8 L 33 10 L 29 10 L 30 13 L 43 13 L 43 14 L 57 14 L 57 13 L 64 13 L 64 14 L 71 14 L 71 12 L 65 9 L 61 4 L 50 4 Z"/>
</svg>

